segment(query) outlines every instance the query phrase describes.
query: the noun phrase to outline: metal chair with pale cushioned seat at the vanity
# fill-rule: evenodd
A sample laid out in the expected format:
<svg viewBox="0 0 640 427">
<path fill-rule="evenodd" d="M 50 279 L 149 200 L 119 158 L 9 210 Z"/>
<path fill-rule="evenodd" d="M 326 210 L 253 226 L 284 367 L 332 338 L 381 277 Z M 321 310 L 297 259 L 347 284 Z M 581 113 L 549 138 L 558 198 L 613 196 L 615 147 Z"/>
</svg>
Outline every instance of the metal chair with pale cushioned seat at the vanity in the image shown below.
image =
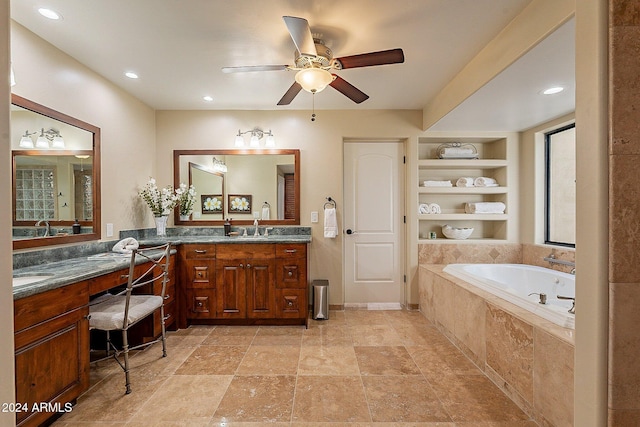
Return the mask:
<svg viewBox="0 0 640 427">
<path fill-rule="evenodd" d="M 162 357 L 167 356 L 164 296 L 169 274 L 169 251 L 171 244 L 134 249 L 129 263 L 129 274 L 126 288 L 116 294 L 105 294 L 89 304 L 89 328 L 105 331 L 107 334 L 107 356 L 113 357 L 124 370 L 126 377 L 126 394 L 131 393 L 129 380 L 129 351 L 145 348 L 162 341 Z M 150 263 L 145 266 L 140 264 Z M 154 295 L 154 289 L 162 286 L 160 295 Z M 144 289 L 141 289 L 142 287 Z M 136 323 L 152 316 L 160 309 L 162 335 L 149 342 L 129 347 L 128 331 Z M 118 349 L 111 341 L 111 331 L 122 331 L 122 349 Z M 113 354 L 109 354 L 113 350 Z M 123 360 L 120 360 L 120 355 Z"/>
</svg>

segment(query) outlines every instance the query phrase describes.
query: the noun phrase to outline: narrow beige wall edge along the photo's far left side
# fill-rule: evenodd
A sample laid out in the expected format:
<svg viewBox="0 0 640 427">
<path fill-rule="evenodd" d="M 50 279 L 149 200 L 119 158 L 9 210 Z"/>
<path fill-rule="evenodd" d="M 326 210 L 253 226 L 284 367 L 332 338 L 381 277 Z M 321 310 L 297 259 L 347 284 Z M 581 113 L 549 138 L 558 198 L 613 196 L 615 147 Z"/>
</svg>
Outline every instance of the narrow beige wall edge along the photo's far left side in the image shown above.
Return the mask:
<svg viewBox="0 0 640 427">
<path fill-rule="evenodd" d="M 9 22 L 9 0 L 0 0 L 0 23 Z M 0 200 L 11 200 L 11 144 L 9 135 L 9 27 L 0 25 Z M 11 212 L 0 210 L 0 252 L 11 253 Z M 13 289 L 11 283 L 11 257 L 0 257 L 0 403 L 13 402 Z M 15 414 L 0 412 L 0 425 L 11 426 Z"/>
</svg>

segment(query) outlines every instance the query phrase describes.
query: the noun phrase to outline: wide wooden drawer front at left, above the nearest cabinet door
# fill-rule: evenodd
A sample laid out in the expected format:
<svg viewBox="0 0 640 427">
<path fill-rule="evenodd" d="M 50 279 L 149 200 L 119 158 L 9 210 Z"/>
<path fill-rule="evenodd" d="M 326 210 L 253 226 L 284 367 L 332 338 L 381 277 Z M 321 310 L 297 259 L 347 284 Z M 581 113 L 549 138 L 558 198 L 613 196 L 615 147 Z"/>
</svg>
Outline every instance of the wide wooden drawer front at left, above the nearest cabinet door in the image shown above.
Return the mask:
<svg viewBox="0 0 640 427">
<path fill-rule="evenodd" d="M 89 286 L 86 281 L 15 300 L 14 330 L 21 331 L 88 303 Z"/>
</svg>

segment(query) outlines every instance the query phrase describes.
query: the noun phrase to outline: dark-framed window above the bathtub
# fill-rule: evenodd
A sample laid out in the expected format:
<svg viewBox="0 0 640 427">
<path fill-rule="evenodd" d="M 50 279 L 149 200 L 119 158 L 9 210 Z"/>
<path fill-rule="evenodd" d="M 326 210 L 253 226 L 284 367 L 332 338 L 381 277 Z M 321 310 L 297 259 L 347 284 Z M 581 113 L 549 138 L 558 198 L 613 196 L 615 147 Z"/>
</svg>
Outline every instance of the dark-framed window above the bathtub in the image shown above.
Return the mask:
<svg viewBox="0 0 640 427">
<path fill-rule="evenodd" d="M 545 134 L 545 243 L 576 246 L 576 126 Z"/>
</svg>

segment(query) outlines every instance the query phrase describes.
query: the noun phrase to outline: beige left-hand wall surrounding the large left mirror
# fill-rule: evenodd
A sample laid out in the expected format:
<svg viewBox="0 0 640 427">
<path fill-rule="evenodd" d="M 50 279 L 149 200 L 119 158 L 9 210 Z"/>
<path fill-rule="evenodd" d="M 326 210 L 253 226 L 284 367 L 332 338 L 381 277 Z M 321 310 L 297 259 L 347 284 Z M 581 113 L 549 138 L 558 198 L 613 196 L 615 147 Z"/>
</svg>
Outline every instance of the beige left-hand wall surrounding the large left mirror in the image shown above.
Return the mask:
<svg viewBox="0 0 640 427">
<path fill-rule="evenodd" d="M 137 192 L 155 175 L 155 111 L 13 21 L 11 37 L 13 93 L 101 129 L 103 239 L 151 227 Z"/>
</svg>

